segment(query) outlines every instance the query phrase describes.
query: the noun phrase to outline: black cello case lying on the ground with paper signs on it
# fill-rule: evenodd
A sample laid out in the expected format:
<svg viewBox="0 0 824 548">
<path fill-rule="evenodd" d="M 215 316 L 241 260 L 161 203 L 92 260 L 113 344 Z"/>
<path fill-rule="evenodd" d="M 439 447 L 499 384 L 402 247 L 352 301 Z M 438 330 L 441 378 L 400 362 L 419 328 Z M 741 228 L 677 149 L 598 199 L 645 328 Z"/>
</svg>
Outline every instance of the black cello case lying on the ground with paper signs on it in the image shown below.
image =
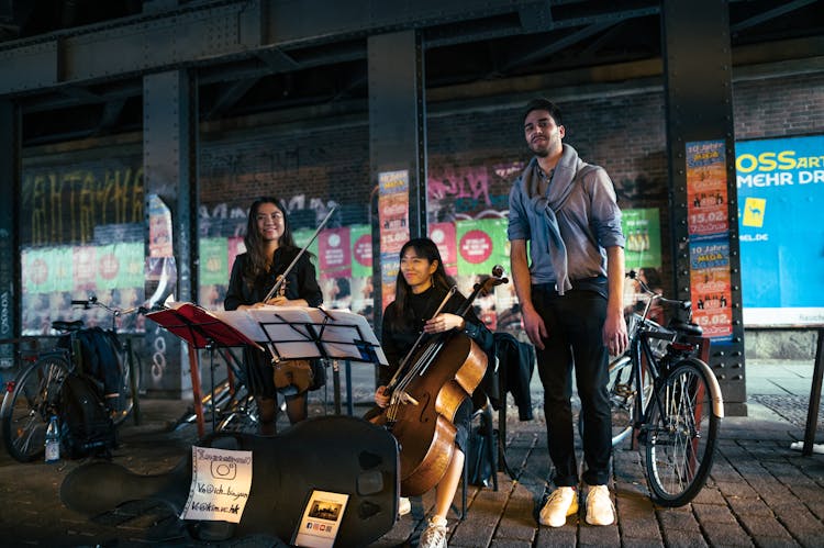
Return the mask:
<svg viewBox="0 0 824 548">
<path fill-rule="evenodd" d="M 349 495 L 335 546 L 367 546 L 394 525 L 398 444 L 385 428 L 361 418 L 309 418 L 271 437 L 214 433 L 196 446 L 253 452 L 252 490 L 241 522 L 187 522 L 197 539 L 267 534 L 289 543 L 313 489 Z M 172 470 L 154 476 L 112 462 L 90 462 L 66 476 L 60 500 L 89 516 L 141 500 L 163 502 L 180 515 L 191 488 L 191 454 Z"/>
</svg>

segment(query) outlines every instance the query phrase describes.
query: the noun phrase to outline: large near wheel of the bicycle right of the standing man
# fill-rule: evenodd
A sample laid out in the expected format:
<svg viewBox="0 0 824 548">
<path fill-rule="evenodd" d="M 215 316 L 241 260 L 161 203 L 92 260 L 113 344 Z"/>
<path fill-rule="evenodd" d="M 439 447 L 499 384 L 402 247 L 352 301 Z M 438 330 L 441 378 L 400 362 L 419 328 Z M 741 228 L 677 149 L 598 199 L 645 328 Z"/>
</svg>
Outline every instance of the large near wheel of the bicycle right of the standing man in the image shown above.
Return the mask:
<svg viewBox="0 0 824 548">
<path fill-rule="evenodd" d="M 678 361 L 660 379 L 644 426 L 645 467 L 653 502 L 683 506 L 703 489 L 715 456 L 721 418 L 703 362 Z"/>
</svg>

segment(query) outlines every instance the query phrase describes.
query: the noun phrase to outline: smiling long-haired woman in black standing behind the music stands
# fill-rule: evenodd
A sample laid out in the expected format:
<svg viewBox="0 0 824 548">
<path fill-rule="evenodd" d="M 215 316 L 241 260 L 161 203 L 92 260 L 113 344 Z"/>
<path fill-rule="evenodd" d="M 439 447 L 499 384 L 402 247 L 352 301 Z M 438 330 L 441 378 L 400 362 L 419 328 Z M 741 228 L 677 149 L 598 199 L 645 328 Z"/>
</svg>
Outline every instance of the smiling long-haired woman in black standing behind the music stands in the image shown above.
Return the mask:
<svg viewBox="0 0 824 548">
<path fill-rule="evenodd" d="M 264 305 L 319 306 L 323 294 L 315 270 L 303 254 L 286 277 L 281 293 L 264 302 L 278 277 L 300 253 L 296 247 L 289 219 L 276 198 L 258 198 L 249 208 L 246 253 L 237 256 L 232 266 L 229 290 L 223 307 L 226 310 L 256 309 Z M 277 389 L 271 357 L 254 348 L 244 349 L 249 391 L 257 396 L 261 434 L 275 432 Z M 291 424 L 307 417 L 307 392 L 285 395 L 286 412 Z"/>
</svg>

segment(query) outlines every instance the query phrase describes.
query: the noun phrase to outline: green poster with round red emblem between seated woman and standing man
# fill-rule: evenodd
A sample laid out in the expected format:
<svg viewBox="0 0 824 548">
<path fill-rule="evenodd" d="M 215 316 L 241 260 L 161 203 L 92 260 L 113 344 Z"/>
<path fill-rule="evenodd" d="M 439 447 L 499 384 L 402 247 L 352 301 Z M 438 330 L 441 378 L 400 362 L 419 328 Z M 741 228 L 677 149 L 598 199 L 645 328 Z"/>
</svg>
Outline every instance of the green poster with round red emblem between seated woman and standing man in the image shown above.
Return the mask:
<svg viewBox="0 0 824 548">
<path fill-rule="evenodd" d="M 492 273 L 492 267 L 509 265 L 506 219 L 458 221 L 458 276 Z"/>
</svg>

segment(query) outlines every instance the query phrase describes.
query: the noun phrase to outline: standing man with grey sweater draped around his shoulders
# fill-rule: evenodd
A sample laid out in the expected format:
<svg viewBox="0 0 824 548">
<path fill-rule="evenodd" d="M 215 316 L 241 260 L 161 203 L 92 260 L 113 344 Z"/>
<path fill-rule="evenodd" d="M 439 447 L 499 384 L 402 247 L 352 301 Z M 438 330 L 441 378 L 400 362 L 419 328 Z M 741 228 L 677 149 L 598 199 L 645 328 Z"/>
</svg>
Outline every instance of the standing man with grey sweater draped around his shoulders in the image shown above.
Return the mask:
<svg viewBox="0 0 824 548">
<path fill-rule="evenodd" d="M 628 344 L 624 235 L 610 177 L 563 144 L 565 134 L 556 104 L 536 99 L 526 105 L 524 135 L 535 156 L 510 191 L 511 271 L 524 328 L 537 350 L 557 488 L 539 521 L 560 527 L 578 512 L 570 403 L 575 366 L 587 465 L 582 479 L 589 485 L 587 523 L 611 525 L 615 508 L 606 488 L 612 455 L 606 382 L 609 355 L 623 353 Z"/>
</svg>

